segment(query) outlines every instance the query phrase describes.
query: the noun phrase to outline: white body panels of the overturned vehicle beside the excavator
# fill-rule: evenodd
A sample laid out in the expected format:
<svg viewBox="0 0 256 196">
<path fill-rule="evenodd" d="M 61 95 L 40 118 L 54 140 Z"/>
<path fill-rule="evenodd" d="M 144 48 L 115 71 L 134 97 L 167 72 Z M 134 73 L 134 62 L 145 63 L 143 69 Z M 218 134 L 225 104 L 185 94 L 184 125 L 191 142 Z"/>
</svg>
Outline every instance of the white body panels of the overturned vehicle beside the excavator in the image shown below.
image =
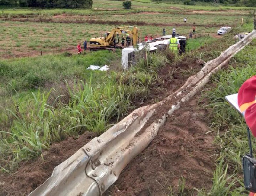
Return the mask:
<svg viewBox="0 0 256 196">
<path fill-rule="evenodd" d="M 129 47 L 126 47 L 122 50 L 122 68 L 123 69 L 128 69 L 128 55 L 129 53 L 131 52 L 137 52 L 145 47 L 147 47 L 147 50 L 149 51 L 152 51 L 152 50 L 156 50 L 158 49 L 158 47 L 156 46 L 161 46 L 161 45 L 167 45 L 169 39 L 171 38 L 172 36 L 171 35 L 165 35 L 163 37 L 159 37 L 159 38 L 156 38 L 152 41 L 146 41 L 146 42 L 143 42 L 143 43 L 139 43 L 137 45 L 137 48 L 133 48 L 133 46 L 129 46 Z M 176 38 L 178 38 L 178 40 L 180 39 L 186 39 L 186 37 L 184 36 L 176 36 Z M 159 40 L 159 41 L 157 41 Z"/>
</svg>

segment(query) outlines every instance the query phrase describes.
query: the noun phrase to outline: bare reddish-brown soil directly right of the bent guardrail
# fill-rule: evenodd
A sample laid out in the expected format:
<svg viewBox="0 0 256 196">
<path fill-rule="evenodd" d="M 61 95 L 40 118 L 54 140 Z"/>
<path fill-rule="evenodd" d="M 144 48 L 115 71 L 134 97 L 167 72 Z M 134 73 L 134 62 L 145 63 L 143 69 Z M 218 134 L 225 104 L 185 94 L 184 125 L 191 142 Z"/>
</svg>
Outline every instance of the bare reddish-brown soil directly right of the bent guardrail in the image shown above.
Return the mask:
<svg viewBox="0 0 256 196">
<path fill-rule="evenodd" d="M 184 195 L 191 195 L 194 187 L 211 187 L 216 160 L 214 136 L 206 134 L 206 111 L 197 109 L 198 99 L 194 97 L 168 117 L 156 138 L 104 195 L 166 195 L 170 186 L 176 195 L 182 177 Z"/>
</svg>

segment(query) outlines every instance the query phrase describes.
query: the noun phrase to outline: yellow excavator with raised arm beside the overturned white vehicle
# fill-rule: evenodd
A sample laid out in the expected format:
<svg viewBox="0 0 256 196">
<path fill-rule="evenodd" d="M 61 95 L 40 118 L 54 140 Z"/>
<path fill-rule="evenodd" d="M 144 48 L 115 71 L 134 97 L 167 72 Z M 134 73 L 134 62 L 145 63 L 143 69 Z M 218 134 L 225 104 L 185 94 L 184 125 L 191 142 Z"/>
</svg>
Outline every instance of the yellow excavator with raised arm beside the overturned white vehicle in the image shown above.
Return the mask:
<svg viewBox="0 0 256 196">
<path fill-rule="evenodd" d="M 132 30 L 126 30 L 126 28 L 133 28 Z M 121 34 L 129 34 L 132 35 L 133 45 L 135 46 L 138 41 L 138 28 L 136 26 L 124 26 L 124 27 L 116 27 L 112 29 L 110 32 L 106 33 L 105 37 L 91 38 L 90 39 L 90 51 L 96 51 L 100 49 L 107 50 L 115 50 L 116 48 L 122 49 L 122 46 L 118 46 L 119 41 L 121 41 L 121 37 L 119 40 L 119 36 Z"/>
</svg>

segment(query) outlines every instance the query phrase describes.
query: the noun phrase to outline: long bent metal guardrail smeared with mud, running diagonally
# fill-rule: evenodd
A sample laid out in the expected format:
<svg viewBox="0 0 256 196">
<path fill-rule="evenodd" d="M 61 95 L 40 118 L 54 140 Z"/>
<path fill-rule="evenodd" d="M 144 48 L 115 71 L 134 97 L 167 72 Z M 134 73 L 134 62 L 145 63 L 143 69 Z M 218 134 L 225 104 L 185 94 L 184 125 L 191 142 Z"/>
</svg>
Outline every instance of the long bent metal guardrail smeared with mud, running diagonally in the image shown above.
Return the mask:
<svg viewBox="0 0 256 196">
<path fill-rule="evenodd" d="M 230 46 L 219 57 L 208 61 L 196 75 L 188 78 L 179 90 L 163 101 L 136 109 L 102 135 L 92 139 L 55 167 L 52 176 L 29 196 L 103 194 L 117 180 L 124 167 L 155 138 L 166 117 L 195 95 L 213 73 L 227 64 L 254 37 L 256 30 Z M 156 117 L 157 109 L 167 106 L 166 112 Z"/>
</svg>

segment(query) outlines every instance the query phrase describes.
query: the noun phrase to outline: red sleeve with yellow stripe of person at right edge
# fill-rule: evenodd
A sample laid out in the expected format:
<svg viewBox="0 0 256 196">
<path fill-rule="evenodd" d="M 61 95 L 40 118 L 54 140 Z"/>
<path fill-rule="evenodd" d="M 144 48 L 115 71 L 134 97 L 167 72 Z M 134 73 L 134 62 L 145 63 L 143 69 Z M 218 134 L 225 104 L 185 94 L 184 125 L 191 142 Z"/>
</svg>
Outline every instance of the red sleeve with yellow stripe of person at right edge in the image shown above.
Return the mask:
<svg viewBox="0 0 256 196">
<path fill-rule="evenodd" d="M 252 135 L 256 137 L 256 76 L 246 80 L 240 87 L 238 105 Z M 249 196 L 256 196 L 256 193 L 250 192 Z"/>
</svg>

